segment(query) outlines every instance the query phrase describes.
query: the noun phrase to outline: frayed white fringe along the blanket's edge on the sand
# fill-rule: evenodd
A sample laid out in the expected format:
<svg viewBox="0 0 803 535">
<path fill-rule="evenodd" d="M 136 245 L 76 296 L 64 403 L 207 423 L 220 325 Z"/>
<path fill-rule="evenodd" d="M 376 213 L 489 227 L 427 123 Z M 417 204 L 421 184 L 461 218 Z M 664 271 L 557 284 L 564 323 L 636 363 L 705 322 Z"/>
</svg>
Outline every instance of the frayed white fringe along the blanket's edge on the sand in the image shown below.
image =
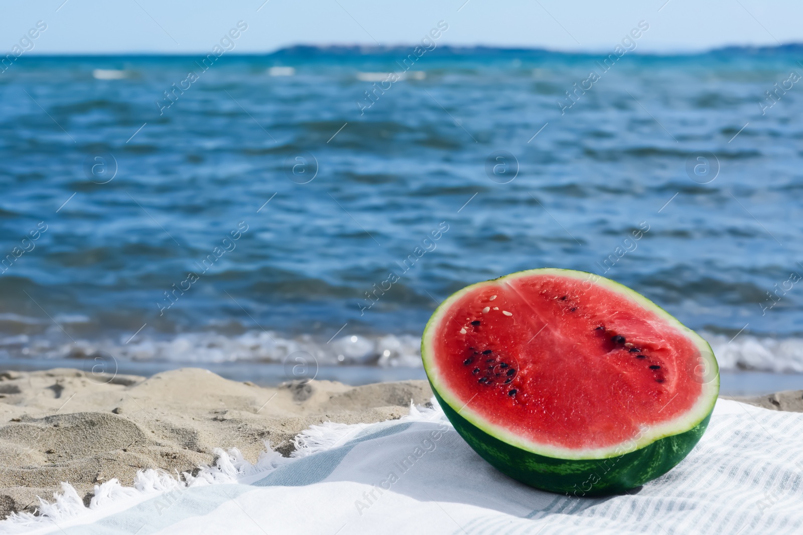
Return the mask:
<svg viewBox="0 0 803 535">
<path fill-rule="evenodd" d="M 438 406 L 438 402 L 434 398 L 432 398 L 430 404 L 432 405 L 431 408 L 417 407 L 410 400 L 410 414 L 402 416 L 401 419 L 389 421 L 434 422 L 445 418 L 441 408 Z M 132 487 L 124 487 L 116 478 L 103 484 L 96 484 L 94 488 L 95 496 L 89 502 L 89 507 L 84 505 L 84 500 L 81 499 L 81 496 L 71 484 L 62 483 L 61 492 L 53 493 L 53 501 L 49 502 L 39 497 L 39 510 L 36 514 L 26 512 L 11 513 L 6 517 L 6 520 L 0 521 L 0 535 L 25 533 L 31 529 L 51 526 L 54 523 L 59 525 L 61 521 L 101 511 L 110 505 L 121 505 L 128 501 L 133 503 L 164 492 L 207 484 L 231 484 L 237 483 L 238 480 L 246 476 L 267 475 L 279 468 L 279 466 L 291 463 L 300 457 L 336 448 L 350 438 L 357 436 L 370 425 L 377 424 L 324 422 L 324 424 L 313 425 L 293 439 L 296 451 L 291 453 L 290 458 L 283 457 L 279 452 L 275 452 L 271 448 L 270 442 L 265 441 L 266 451 L 259 454 L 259 459 L 255 464 L 245 460 L 243 453 L 238 448 L 231 448 L 227 452 L 223 451 L 222 448 L 214 448 L 213 452 L 216 456 L 214 464 L 211 466 L 201 465 L 200 471 L 195 476 L 189 472 L 182 472 L 181 476 L 178 476 L 178 474 L 173 476 L 164 470 L 149 468 L 137 471 Z"/>
</svg>

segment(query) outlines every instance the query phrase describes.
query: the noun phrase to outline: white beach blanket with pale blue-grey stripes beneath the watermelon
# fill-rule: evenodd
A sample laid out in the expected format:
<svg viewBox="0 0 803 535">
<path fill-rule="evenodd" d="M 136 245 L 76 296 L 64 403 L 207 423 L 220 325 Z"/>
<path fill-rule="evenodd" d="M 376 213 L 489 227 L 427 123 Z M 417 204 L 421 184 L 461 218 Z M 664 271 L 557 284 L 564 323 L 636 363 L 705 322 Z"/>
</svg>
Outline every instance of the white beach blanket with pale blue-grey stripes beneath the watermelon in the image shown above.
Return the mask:
<svg viewBox="0 0 803 535">
<path fill-rule="evenodd" d="M 626 494 L 541 492 L 480 458 L 434 408 L 380 424 L 324 424 L 291 459 L 249 464 L 219 451 L 178 482 L 153 470 L 135 488 L 96 487 L 89 508 L 69 485 L 39 517 L 0 533 L 803 533 L 803 414 L 720 399 L 698 446 Z"/>
</svg>

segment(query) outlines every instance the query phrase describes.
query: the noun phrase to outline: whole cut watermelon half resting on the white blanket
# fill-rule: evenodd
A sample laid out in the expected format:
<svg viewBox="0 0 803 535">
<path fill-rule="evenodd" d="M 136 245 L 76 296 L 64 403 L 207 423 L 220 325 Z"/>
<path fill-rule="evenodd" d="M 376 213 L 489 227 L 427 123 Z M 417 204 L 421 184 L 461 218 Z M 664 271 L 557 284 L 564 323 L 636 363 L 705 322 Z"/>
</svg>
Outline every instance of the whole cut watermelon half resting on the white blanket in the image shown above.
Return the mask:
<svg viewBox="0 0 803 535">
<path fill-rule="evenodd" d="M 422 337 L 435 396 L 499 471 L 573 496 L 668 472 L 719 393 L 711 347 L 641 294 L 573 270 L 467 286 Z"/>
</svg>

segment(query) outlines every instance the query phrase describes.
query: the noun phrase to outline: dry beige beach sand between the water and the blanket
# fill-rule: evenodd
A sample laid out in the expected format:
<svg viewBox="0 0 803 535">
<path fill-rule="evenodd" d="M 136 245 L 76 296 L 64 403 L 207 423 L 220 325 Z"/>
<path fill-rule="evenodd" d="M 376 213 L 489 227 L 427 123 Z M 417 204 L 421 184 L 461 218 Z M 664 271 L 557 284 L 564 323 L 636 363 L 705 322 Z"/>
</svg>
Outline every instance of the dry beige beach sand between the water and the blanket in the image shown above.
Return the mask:
<svg viewBox="0 0 803 535">
<path fill-rule="evenodd" d="M 803 411 L 801 395 L 740 400 Z M 36 496 L 49 499 L 62 481 L 88 504 L 94 485 L 112 477 L 130 485 L 141 468 L 192 473 L 214 462 L 213 448 L 239 448 L 254 462 L 265 440 L 288 455 L 312 424 L 397 419 L 411 399 L 431 396 L 426 381 L 264 388 L 198 368 L 100 380 L 66 368 L 0 371 L 0 518 L 34 511 Z"/>
</svg>

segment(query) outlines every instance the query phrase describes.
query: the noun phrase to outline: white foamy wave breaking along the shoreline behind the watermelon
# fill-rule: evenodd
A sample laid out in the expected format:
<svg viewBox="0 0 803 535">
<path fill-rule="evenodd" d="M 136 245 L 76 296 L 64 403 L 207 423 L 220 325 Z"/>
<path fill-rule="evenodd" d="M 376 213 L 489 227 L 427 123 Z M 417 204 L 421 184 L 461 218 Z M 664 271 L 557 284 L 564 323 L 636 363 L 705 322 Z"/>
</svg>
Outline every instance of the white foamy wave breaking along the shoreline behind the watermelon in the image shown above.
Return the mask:
<svg viewBox="0 0 803 535">
<path fill-rule="evenodd" d="M 721 371 L 803 373 L 803 338 L 762 338 L 742 334 L 729 338 L 702 333 L 711 343 Z M 38 359 L 93 359 L 112 355 L 133 362 L 285 363 L 296 356 L 320 366 L 422 367 L 421 338 L 412 334 L 349 334 L 324 340 L 312 334 L 286 337 L 274 331 L 243 334 L 183 333 L 173 337 L 64 342 L 46 335 L 18 334 L 0 338 L 0 355 Z"/>
</svg>

